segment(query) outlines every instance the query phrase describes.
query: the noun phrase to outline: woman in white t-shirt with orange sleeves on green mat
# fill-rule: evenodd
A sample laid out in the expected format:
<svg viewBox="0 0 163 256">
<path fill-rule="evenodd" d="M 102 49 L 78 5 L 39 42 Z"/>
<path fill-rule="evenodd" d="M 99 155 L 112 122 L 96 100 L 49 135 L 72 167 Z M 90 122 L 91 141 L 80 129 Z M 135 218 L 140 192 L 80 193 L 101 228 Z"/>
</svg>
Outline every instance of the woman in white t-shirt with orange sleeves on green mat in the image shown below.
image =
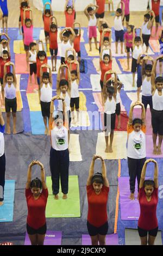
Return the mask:
<svg viewBox="0 0 163 256">
<path fill-rule="evenodd" d="M 63 112 L 54 112 L 54 101 L 61 100 Z M 52 190 L 55 199 L 59 199 L 59 180 L 61 182 L 61 191 L 64 194 L 62 199 L 67 199 L 68 193 L 68 169 L 70 164 L 68 151 L 68 120 L 65 111 L 65 99 L 56 95 L 51 101 L 50 130 L 51 130 L 51 152 L 50 169 L 52 174 Z M 54 117 L 54 118 L 53 118 Z"/>
</svg>

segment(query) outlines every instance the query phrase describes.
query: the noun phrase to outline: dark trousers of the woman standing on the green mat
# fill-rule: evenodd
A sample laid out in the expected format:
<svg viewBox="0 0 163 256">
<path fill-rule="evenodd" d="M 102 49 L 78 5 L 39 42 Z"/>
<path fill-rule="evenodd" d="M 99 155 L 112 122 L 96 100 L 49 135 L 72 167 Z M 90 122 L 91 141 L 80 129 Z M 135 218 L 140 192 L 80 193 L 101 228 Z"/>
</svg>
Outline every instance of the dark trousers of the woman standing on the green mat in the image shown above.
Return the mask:
<svg viewBox="0 0 163 256">
<path fill-rule="evenodd" d="M 50 152 L 50 169 L 52 174 L 52 191 L 53 194 L 59 193 L 59 180 L 61 182 L 62 193 L 68 193 L 68 169 L 70 159 L 69 151 L 55 150 L 51 148 Z"/>
</svg>

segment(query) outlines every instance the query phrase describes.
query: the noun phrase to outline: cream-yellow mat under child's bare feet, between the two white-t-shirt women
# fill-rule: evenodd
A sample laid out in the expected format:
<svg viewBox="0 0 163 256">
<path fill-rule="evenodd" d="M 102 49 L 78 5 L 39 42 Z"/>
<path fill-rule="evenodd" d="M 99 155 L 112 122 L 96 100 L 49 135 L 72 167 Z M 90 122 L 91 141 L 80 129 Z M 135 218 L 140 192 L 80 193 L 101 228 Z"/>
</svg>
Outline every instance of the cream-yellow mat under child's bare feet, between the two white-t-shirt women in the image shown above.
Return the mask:
<svg viewBox="0 0 163 256">
<path fill-rule="evenodd" d="M 114 139 L 112 143 L 113 153 L 105 153 L 105 133 L 99 132 L 96 144 L 96 155 L 102 156 L 103 159 L 127 159 L 127 132 L 114 132 Z"/>
</svg>

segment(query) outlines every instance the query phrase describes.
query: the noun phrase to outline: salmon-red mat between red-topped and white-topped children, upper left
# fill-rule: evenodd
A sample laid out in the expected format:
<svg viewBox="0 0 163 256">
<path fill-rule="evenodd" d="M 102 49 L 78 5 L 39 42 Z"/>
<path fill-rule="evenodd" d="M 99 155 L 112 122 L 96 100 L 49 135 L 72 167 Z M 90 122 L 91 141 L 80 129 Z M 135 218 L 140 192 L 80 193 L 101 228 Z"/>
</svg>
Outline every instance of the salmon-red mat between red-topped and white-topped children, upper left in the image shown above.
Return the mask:
<svg viewBox="0 0 163 256">
<path fill-rule="evenodd" d="M 26 54 L 15 54 L 16 74 L 29 74 L 27 72 Z"/>
</svg>

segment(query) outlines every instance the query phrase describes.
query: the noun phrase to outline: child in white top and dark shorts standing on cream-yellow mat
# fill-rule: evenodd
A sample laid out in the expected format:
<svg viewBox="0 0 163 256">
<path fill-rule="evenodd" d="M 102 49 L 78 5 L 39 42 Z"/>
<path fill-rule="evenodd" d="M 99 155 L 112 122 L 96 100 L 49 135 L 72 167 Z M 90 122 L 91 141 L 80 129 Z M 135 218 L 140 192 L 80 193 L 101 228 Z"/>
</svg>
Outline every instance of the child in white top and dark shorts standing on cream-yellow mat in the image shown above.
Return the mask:
<svg viewBox="0 0 163 256">
<path fill-rule="evenodd" d="M 106 83 L 106 77 L 108 74 L 115 75 L 114 87 L 109 86 Z M 103 95 L 104 95 L 104 132 L 105 132 L 105 142 L 106 148 L 105 153 L 112 153 L 112 141 L 114 138 L 114 129 L 116 121 L 116 97 L 117 97 L 117 74 L 115 71 L 109 70 L 105 72 L 104 75 L 104 86 L 103 86 Z M 110 145 L 109 145 L 109 132 L 110 132 Z"/>
</svg>

